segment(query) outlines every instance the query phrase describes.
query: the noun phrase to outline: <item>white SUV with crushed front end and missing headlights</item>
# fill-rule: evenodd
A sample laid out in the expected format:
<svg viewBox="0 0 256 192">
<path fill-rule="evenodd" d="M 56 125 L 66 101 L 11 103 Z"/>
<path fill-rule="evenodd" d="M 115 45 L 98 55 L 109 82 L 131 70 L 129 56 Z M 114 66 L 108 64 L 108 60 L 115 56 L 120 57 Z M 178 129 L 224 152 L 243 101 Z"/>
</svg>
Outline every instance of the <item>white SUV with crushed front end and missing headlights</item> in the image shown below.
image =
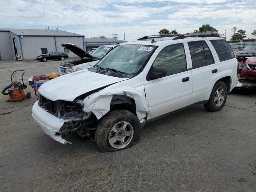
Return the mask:
<svg viewBox="0 0 256 192">
<path fill-rule="evenodd" d="M 118 45 L 93 67 L 42 84 L 32 116 L 63 144 L 75 131 L 94 136 L 100 151 L 122 150 L 156 118 L 198 103 L 222 109 L 238 82 L 237 66 L 219 36 L 146 36 Z"/>
</svg>

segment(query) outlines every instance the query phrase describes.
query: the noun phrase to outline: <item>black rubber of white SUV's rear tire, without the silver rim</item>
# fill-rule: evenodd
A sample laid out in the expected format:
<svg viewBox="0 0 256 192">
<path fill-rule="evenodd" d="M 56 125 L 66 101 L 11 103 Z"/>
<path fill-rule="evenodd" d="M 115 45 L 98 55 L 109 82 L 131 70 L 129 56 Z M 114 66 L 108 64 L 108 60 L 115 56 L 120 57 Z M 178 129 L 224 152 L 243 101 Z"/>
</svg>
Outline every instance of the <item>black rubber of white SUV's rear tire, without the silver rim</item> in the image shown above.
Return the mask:
<svg viewBox="0 0 256 192">
<path fill-rule="evenodd" d="M 215 97 L 216 91 L 219 90 L 220 88 L 222 88 L 224 90 L 224 99 L 222 101 L 222 104 L 220 104 L 220 106 L 217 106 L 217 104 L 214 101 L 214 97 Z M 226 84 L 223 81 L 216 82 L 216 84 L 212 88 L 212 92 L 211 92 L 210 98 L 208 100 L 208 103 L 204 104 L 204 107 L 208 111 L 212 111 L 212 112 L 221 110 L 226 103 L 227 93 L 228 93 L 228 89 L 227 89 Z"/>
</svg>

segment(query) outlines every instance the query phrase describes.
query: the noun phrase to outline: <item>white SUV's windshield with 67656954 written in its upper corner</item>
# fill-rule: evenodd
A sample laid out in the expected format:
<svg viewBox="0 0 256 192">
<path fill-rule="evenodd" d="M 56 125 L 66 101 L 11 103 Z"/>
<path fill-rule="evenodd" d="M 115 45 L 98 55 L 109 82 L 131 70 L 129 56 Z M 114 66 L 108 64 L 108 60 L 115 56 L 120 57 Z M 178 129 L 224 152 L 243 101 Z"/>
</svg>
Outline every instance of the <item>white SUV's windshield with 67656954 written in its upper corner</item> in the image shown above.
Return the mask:
<svg viewBox="0 0 256 192">
<path fill-rule="evenodd" d="M 98 62 L 100 68 L 108 68 L 135 74 L 144 65 L 156 46 L 119 45 Z"/>
</svg>

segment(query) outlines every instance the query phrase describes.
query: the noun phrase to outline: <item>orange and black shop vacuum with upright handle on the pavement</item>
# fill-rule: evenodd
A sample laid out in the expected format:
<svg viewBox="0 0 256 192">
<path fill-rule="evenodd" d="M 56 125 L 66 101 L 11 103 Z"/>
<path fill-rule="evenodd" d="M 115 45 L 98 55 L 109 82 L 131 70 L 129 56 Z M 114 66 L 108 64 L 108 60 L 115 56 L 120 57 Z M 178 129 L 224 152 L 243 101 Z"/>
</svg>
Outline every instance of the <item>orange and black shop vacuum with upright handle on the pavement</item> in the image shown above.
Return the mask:
<svg viewBox="0 0 256 192">
<path fill-rule="evenodd" d="M 12 81 L 12 75 L 17 72 L 17 71 L 21 71 L 23 72 L 21 78 L 22 78 L 22 83 L 21 82 L 17 82 L 17 81 Z M 8 85 L 6 88 L 4 88 L 4 90 L 2 91 L 2 94 L 4 95 L 9 95 L 9 98 L 7 100 L 7 102 L 10 102 L 10 101 L 19 101 L 21 102 L 25 97 L 27 98 L 31 98 L 31 93 L 30 92 L 27 92 L 27 94 L 25 93 L 25 90 L 26 90 L 26 85 L 24 84 L 24 81 L 23 81 L 23 75 L 25 73 L 24 70 L 17 70 L 17 71 L 14 71 L 11 75 L 11 84 Z M 8 90 L 8 92 L 6 92 L 6 90 Z"/>
</svg>

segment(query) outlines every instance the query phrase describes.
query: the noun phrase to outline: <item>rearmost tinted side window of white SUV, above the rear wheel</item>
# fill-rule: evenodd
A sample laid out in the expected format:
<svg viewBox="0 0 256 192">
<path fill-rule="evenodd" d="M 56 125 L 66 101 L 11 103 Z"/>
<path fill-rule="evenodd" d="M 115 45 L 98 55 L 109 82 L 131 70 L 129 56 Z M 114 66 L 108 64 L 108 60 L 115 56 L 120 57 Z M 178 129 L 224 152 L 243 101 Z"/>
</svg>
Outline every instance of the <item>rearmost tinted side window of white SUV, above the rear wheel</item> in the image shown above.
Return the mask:
<svg viewBox="0 0 256 192">
<path fill-rule="evenodd" d="M 230 45 L 226 40 L 224 39 L 210 40 L 210 42 L 212 43 L 212 46 L 216 50 L 220 61 L 225 61 L 225 60 L 235 58 L 234 52 L 232 51 L 232 48 L 230 47 Z"/>
</svg>

